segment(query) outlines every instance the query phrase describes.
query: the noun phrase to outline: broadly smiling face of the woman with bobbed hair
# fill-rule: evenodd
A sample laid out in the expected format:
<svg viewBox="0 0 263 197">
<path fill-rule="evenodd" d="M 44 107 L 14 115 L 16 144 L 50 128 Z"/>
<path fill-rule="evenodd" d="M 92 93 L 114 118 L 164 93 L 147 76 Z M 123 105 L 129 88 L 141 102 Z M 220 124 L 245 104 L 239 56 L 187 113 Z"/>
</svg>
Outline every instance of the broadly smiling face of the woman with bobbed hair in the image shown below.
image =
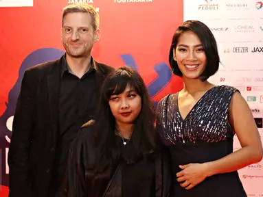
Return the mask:
<svg viewBox="0 0 263 197">
<path fill-rule="evenodd" d="M 185 31 L 181 34 L 173 51 L 173 57 L 183 77 L 188 79 L 198 79 L 207 64 L 203 44 L 193 31 Z"/>
</svg>

